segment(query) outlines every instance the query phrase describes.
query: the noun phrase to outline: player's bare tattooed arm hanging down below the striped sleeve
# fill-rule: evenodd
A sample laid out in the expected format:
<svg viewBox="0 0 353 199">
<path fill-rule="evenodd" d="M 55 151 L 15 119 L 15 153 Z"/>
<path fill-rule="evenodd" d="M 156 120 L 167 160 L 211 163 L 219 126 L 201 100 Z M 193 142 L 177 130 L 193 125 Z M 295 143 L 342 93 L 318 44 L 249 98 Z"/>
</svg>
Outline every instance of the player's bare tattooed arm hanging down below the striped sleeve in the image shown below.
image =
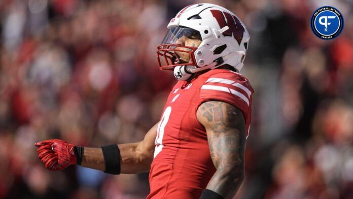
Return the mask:
<svg viewBox="0 0 353 199">
<path fill-rule="evenodd" d="M 245 121 L 236 107 L 210 101 L 197 109 L 205 127 L 209 151 L 217 169 L 206 189 L 233 198 L 244 179 Z"/>
</svg>

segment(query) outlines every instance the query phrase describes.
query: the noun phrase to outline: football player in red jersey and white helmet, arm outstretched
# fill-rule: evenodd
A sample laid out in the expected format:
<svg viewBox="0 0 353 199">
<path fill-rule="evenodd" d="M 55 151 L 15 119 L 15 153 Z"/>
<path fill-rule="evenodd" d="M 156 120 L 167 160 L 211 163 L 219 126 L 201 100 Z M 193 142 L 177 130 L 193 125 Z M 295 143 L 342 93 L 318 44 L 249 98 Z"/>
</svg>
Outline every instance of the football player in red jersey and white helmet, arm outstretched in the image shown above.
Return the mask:
<svg viewBox="0 0 353 199">
<path fill-rule="evenodd" d="M 157 47 L 161 70 L 179 81 L 160 121 L 137 143 L 80 147 L 36 143 L 48 170 L 79 164 L 110 174 L 150 171 L 147 198 L 232 198 L 244 179 L 253 88 L 239 74 L 250 39 L 229 10 L 195 4 L 181 10 Z"/>
</svg>

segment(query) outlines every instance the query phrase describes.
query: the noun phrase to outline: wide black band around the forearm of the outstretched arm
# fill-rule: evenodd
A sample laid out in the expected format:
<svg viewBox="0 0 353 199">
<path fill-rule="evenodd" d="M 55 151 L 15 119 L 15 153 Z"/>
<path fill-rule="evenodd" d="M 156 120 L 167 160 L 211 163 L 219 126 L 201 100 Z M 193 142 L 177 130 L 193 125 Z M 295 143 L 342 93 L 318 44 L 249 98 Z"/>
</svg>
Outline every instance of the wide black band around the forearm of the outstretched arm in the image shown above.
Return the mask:
<svg viewBox="0 0 353 199">
<path fill-rule="evenodd" d="M 116 144 L 100 147 L 103 151 L 105 171 L 107 174 L 120 174 L 120 150 Z"/>
</svg>

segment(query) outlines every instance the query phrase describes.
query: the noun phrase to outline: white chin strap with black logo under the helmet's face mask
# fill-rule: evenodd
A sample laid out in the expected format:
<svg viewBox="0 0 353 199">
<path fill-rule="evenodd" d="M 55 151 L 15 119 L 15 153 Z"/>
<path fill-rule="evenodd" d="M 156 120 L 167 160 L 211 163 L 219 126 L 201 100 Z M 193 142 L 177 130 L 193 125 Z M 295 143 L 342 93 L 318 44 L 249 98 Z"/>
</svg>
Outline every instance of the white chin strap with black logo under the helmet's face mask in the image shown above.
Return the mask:
<svg viewBox="0 0 353 199">
<path fill-rule="evenodd" d="M 174 77 L 177 78 L 178 80 L 186 81 L 191 77 L 193 73 L 197 73 L 207 69 L 216 69 L 234 54 L 244 55 L 245 52 L 236 51 L 236 52 L 230 53 L 226 56 L 216 59 L 214 62 L 210 63 L 209 65 L 206 65 L 205 67 L 200 67 L 200 68 L 197 68 L 194 65 L 179 65 L 178 67 L 174 67 Z"/>
</svg>

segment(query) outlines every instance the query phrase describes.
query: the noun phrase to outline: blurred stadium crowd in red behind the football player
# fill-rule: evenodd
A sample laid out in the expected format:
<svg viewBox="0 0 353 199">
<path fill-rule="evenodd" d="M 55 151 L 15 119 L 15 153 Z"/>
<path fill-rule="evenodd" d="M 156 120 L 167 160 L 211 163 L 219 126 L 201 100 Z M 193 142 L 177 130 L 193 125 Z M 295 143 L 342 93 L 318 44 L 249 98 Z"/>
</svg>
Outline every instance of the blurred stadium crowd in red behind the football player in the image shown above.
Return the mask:
<svg viewBox="0 0 353 199">
<path fill-rule="evenodd" d="M 205 1 L 233 11 L 251 40 L 255 94 L 237 198 L 353 198 L 353 1 Z M 148 174 L 46 171 L 33 143 L 139 141 L 176 82 L 155 49 L 195 1 L 0 0 L 0 198 L 144 198 Z M 341 35 L 309 27 L 343 14 Z"/>
</svg>

